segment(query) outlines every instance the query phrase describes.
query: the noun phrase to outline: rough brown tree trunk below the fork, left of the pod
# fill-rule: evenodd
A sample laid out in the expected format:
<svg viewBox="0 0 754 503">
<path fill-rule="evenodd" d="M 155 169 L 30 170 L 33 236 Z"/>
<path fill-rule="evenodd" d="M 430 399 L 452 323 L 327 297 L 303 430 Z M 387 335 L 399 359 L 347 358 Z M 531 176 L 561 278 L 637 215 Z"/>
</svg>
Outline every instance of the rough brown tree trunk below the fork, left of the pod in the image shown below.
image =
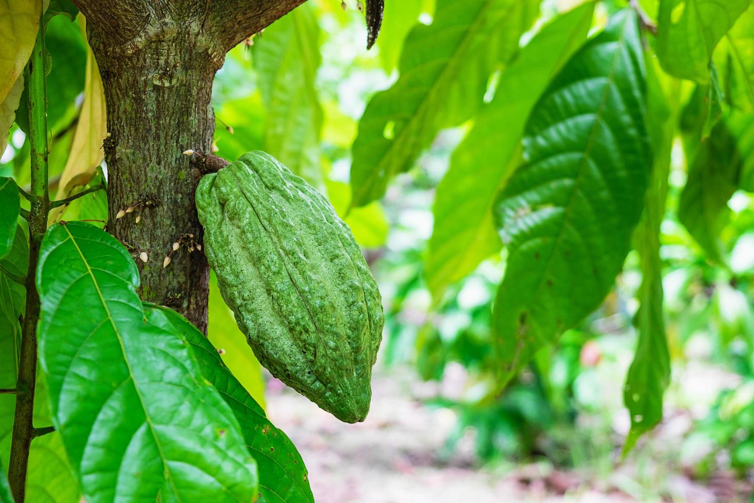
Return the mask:
<svg viewBox="0 0 754 503">
<path fill-rule="evenodd" d="M 212 82 L 224 51 L 203 47 L 195 24 L 177 26 L 165 23 L 118 51 L 90 35 L 107 100 L 108 230 L 139 266 L 141 299 L 176 309 L 206 333 L 207 259 L 190 251 L 202 238 L 194 204 L 201 175 L 182 152 L 211 152 Z"/>
</svg>

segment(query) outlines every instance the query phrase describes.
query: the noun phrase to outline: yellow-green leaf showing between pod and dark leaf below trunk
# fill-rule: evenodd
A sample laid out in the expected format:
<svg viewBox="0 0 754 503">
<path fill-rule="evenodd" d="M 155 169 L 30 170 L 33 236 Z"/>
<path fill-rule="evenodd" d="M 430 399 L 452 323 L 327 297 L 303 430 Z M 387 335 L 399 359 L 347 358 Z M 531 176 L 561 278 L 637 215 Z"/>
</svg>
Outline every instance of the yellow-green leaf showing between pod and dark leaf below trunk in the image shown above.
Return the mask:
<svg viewBox="0 0 754 503">
<path fill-rule="evenodd" d="M 210 307 L 207 339 L 218 350 L 222 349 L 222 362 L 236 376 L 251 397 L 265 407 L 265 381 L 262 379 L 262 365 L 254 356 L 254 351 L 246 341 L 246 336 L 233 318 L 233 311 L 222 299 L 217 287 L 217 278 L 210 277 Z"/>
</svg>

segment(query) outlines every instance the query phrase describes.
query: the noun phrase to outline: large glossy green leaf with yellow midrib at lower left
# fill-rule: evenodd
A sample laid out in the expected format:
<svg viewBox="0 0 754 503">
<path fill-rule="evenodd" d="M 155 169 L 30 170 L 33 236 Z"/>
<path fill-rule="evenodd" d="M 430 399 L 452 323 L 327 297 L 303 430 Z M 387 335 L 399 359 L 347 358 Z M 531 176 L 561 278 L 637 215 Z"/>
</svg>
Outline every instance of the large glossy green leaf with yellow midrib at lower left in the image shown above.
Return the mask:
<svg viewBox="0 0 754 503">
<path fill-rule="evenodd" d="M 145 323 L 111 235 L 56 224 L 41 244 L 39 357 L 87 501 L 250 501 L 256 465 L 185 342 Z"/>
</svg>

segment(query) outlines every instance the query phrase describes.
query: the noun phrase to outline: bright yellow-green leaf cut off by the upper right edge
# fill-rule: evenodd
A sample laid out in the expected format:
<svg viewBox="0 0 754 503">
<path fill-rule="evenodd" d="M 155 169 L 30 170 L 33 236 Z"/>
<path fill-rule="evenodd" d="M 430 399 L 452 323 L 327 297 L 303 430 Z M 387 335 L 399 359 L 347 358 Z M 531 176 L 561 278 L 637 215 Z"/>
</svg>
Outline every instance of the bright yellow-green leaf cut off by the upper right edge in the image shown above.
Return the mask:
<svg viewBox="0 0 754 503">
<path fill-rule="evenodd" d="M 754 112 L 754 6 L 741 14 L 715 51 L 729 105 Z"/>
</svg>

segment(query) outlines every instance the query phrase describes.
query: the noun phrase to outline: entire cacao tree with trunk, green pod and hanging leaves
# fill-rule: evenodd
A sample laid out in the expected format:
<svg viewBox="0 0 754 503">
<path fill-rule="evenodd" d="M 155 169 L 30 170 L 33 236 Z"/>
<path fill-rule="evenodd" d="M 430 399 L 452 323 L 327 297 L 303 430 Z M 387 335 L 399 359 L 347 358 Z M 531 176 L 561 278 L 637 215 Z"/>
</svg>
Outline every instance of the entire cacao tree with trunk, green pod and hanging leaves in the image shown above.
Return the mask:
<svg viewBox="0 0 754 503">
<path fill-rule="evenodd" d="M 336 141 L 348 185 L 320 161 L 316 84 L 317 14 L 346 2 L 0 5 L 0 501 L 314 501 L 249 376 L 261 363 L 338 419 L 365 419 L 385 316 L 359 244 L 391 182 L 449 128 L 463 138 L 423 281 L 443 305 L 504 250 L 496 391 L 638 254 L 628 452 L 661 422 L 670 381 L 663 217 L 677 211 L 723 263 L 728 200 L 752 190 L 754 7 L 558 3 L 388 2 L 378 38 L 383 2 L 357 2 L 366 48 L 397 79 L 352 145 Z M 216 72 L 251 46 L 259 114 L 216 130 Z M 677 209 L 673 162 L 688 166 Z M 241 360 L 213 330 L 228 308 Z"/>
</svg>

